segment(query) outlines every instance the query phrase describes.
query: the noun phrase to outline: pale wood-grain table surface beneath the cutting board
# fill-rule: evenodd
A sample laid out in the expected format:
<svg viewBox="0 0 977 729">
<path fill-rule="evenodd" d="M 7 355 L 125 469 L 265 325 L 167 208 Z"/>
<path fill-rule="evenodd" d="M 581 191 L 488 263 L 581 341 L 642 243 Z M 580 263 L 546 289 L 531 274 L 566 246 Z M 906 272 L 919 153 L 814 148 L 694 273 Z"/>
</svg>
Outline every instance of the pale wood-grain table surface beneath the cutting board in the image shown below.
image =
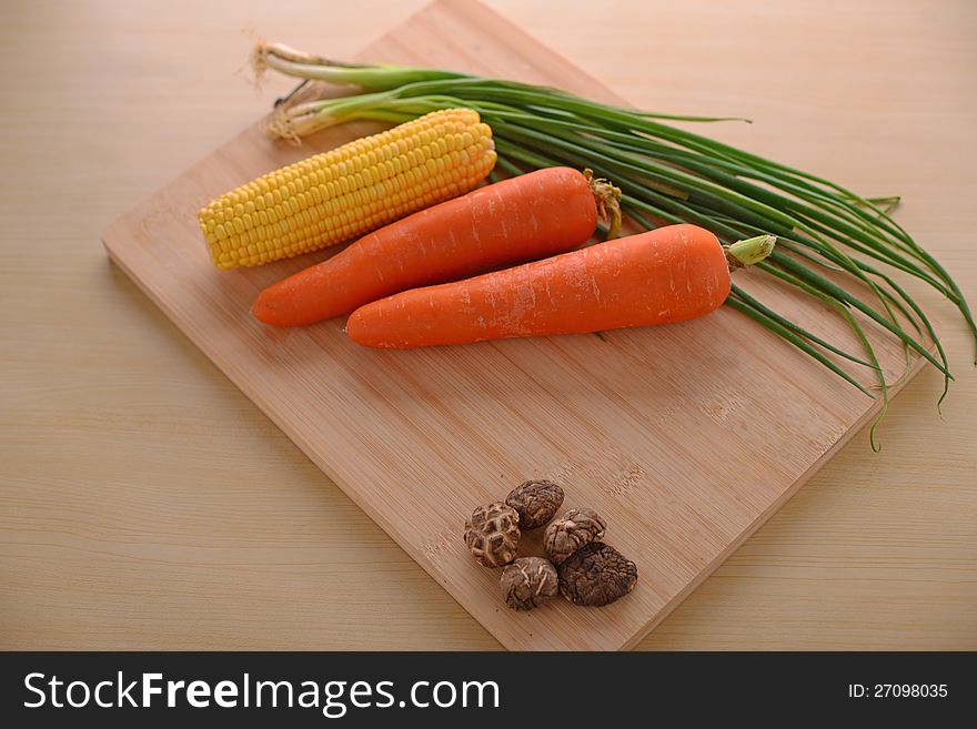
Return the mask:
<svg viewBox="0 0 977 729">
<path fill-rule="evenodd" d="M 494 649 L 105 257 L 105 225 L 262 114 L 250 32 L 342 58 L 422 7 L 0 8 L 0 648 Z M 977 303 L 977 7 L 491 0 L 634 103 L 870 194 Z M 893 403 L 641 645 L 977 648 L 977 372 Z"/>
</svg>

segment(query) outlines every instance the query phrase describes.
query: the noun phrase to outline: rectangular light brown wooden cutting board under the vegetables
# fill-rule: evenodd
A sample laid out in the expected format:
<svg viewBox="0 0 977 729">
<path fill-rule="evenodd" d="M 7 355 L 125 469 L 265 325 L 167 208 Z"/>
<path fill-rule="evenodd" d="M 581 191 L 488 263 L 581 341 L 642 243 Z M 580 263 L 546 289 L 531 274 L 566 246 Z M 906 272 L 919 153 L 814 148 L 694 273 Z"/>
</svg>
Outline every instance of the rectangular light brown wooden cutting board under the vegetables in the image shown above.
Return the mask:
<svg viewBox="0 0 977 729">
<path fill-rule="evenodd" d="M 491 10 L 461 0 L 429 6 L 360 58 L 615 100 Z M 268 141 L 255 124 L 113 223 L 105 247 L 503 645 L 631 647 L 879 403 L 726 308 L 697 322 L 612 332 L 604 341 L 563 336 L 413 352 L 357 347 L 343 335 L 342 320 L 289 331 L 259 325 L 249 314 L 258 291 L 324 254 L 215 271 L 197 210 L 273 168 L 375 129 L 346 125 L 296 149 Z M 857 350 L 826 310 L 762 273 L 737 280 L 773 307 Z M 887 373 L 897 376 L 905 366 L 900 347 L 874 341 Z M 910 374 L 918 367 L 914 362 Z M 473 563 L 461 534 L 474 506 L 504 498 L 531 477 L 561 483 L 567 507 L 587 505 L 604 515 L 605 540 L 637 564 L 641 579 L 632 595 L 602 609 L 562 599 L 526 614 L 505 607 L 498 573 Z M 538 534 L 530 533 L 524 545 L 526 553 L 538 550 Z"/>
</svg>

